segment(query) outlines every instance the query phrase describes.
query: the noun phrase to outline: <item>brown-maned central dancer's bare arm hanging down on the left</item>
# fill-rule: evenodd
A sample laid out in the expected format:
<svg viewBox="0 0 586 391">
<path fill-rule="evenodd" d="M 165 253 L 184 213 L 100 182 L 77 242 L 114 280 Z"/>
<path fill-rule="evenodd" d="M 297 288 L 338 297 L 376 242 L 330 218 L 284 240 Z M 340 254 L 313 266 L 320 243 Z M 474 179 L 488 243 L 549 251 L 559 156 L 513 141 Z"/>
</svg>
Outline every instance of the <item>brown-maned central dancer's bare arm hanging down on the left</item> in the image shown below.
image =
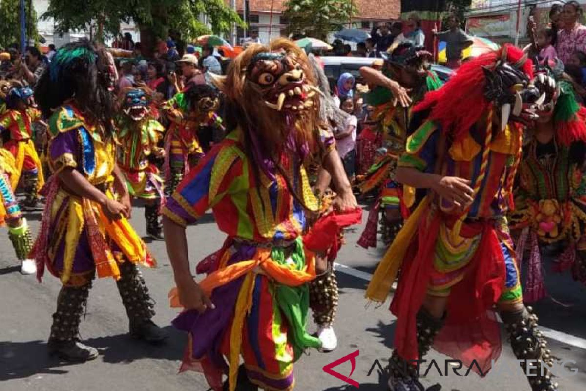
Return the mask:
<svg viewBox="0 0 586 391">
<path fill-rule="evenodd" d="M 165 246 L 171 260 L 175 284 L 179 293 L 179 301 L 186 310 L 206 311 L 215 308 L 209 298 L 203 293 L 202 288 L 193 280 L 189 270 L 189 257 L 185 227 L 163 216 L 163 232 L 165 233 Z"/>
</svg>

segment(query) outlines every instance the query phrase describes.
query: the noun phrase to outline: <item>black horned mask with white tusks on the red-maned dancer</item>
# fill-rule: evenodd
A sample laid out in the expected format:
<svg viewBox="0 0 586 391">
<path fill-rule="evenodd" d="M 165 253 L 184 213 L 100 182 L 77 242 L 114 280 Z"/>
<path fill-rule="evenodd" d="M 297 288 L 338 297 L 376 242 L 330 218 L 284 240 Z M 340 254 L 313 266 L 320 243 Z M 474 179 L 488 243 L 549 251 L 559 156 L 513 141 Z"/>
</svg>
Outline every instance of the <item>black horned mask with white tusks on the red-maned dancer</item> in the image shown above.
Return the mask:
<svg viewBox="0 0 586 391">
<path fill-rule="evenodd" d="M 486 100 L 499 108 L 500 128 L 504 130 L 509 121 L 528 124 L 539 118 L 537 108 L 546 100 L 541 92 L 521 69 L 527 56 L 516 63 L 507 61 L 507 46 L 503 47 L 501 57 L 493 67 L 483 67 L 485 74 Z"/>
</svg>

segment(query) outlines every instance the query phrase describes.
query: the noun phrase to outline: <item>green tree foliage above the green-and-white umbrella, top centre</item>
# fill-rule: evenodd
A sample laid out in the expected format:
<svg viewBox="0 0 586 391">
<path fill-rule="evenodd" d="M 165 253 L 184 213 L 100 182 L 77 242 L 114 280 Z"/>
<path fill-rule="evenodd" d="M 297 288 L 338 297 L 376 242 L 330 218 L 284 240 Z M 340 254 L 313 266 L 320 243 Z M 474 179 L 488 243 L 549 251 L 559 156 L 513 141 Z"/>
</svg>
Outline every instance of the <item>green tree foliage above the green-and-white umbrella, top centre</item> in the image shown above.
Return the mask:
<svg viewBox="0 0 586 391">
<path fill-rule="evenodd" d="M 344 28 L 357 15 L 354 3 L 352 0 L 289 0 L 284 12 L 288 33 L 326 40 L 329 33 Z"/>
</svg>

